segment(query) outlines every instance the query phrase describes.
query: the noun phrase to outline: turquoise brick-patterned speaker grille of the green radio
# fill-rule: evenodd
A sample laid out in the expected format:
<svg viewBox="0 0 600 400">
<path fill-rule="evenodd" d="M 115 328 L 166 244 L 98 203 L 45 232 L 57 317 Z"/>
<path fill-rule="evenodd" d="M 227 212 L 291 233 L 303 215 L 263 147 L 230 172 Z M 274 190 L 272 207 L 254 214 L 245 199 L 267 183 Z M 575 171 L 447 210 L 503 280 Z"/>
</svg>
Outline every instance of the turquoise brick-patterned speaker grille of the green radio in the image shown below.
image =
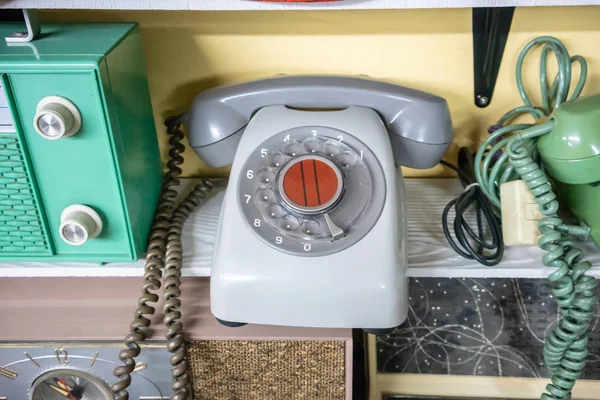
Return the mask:
<svg viewBox="0 0 600 400">
<path fill-rule="evenodd" d="M 0 136 L 0 252 L 50 253 L 16 134 Z"/>
</svg>

